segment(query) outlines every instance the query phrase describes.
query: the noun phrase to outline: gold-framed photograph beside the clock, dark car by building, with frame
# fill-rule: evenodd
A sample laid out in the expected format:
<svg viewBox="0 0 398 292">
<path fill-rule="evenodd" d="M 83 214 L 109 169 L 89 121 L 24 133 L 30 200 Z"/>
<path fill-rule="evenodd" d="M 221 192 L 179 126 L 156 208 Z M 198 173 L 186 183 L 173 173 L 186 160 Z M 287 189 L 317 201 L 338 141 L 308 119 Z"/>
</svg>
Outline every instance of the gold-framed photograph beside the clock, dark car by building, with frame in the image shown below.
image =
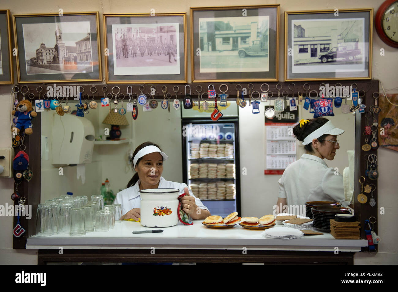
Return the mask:
<svg viewBox="0 0 398 292">
<path fill-rule="evenodd" d="M 371 79 L 373 8 L 285 12 L 285 81 Z"/>
</svg>

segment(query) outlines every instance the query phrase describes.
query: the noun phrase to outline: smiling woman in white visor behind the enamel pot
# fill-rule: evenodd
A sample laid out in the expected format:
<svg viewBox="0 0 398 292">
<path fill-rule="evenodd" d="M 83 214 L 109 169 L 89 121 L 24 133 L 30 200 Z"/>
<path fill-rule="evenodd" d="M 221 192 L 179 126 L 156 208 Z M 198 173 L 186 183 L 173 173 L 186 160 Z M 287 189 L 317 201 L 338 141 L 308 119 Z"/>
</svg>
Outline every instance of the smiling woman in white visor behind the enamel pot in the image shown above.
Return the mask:
<svg viewBox="0 0 398 292">
<path fill-rule="evenodd" d="M 114 201 L 122 205 L 122 219 L 140 218 L 140 190 L 172 188 L 186 193 L 181 203 L 185 213 L 192 219 L 205 219 L 210 216 L 209 210 L 200 199 L 193 195 L 192 190 L 186 184 L 165 180 L 161 175 L 163 172 L 163 161 L 168 156 L 162 152 L 158 145 L 152 142 L 142 143 L 133 153 L 132 168 L 136 171 L 133 178 L 127 184 L 127 189 L 119 191 Z"/>
</svg>

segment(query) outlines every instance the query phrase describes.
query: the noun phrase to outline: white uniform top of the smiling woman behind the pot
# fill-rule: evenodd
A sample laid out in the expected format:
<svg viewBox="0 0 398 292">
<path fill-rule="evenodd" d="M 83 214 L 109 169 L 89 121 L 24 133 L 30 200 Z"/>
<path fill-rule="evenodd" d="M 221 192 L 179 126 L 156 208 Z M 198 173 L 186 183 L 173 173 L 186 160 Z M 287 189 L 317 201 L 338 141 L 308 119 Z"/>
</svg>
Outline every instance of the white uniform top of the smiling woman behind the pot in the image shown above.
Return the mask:
<svg viewBox="0 0 398 292">
<path fill-rule="evenodd" d="M 201 209 L 207 209 L 205 205 L 203 205 L 202 201 L 193 195 L 191 188 L 189 188 L 186 184 L 180 184 L 179 182 L 171 182 L 169 180 L 165 180 L 163 176 L 160 177 L 159 186 L 160 189 L 178 189 L 181 193 L 184 193 L 184 188 L 188 188 L 189 195 L 195 198 L 195 204 Z M 140 208 L 141 207 L 141 197 L 140 197 L 140 180 L 138 180 L 134 186 L 131 186 L 123 191 L 119 191 L 116 194 L 114 204 L 122 205 L 122 216 L 129 212 L 131 209 Z"/>
</svg>

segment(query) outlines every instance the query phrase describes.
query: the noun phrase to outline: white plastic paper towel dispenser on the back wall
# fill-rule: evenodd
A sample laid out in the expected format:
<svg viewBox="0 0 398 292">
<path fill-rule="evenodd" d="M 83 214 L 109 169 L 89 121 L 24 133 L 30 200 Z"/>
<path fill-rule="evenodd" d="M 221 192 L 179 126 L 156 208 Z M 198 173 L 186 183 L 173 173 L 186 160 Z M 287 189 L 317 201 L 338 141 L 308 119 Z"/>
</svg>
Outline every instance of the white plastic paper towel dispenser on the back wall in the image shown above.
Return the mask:
<svg viewBox="0 0 398 292">
<path fill-rule="evenodd" d="M 94 126 L 84 117 L 54 113 L 52 131 L 52 164 L 91 163 L 94 148 Z"/>
</svg>

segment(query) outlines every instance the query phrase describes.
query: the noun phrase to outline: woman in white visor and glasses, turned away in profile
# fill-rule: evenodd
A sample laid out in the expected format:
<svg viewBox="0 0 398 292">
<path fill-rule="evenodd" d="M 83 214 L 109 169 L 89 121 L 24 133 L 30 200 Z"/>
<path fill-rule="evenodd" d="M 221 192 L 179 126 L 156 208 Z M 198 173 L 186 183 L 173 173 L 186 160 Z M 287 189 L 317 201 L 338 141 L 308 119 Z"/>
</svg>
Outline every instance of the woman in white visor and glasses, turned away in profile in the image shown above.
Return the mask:
<svg viewBox="0 0 398 292">
<path fill-rule="evenodd" d="M 336 128 L 326 118 L 300 120 L 293 128 L 293 134 L 306 151 L 300 159 L 293 162 L 279 179 L 279 198 L 277 213 L 282 206 L 302 206 L 309 201 L 335 201 L 347 207 L 345 201 L 343 176 L 334 168 L 329 168 L 324 159 L 333 160 L 340 148 L 337 136 L 344 130 Z M 279 212 L 278 212 L 279 211 Z M 302 215 L 302 214 L 301 214 Z"/>
</svg>

